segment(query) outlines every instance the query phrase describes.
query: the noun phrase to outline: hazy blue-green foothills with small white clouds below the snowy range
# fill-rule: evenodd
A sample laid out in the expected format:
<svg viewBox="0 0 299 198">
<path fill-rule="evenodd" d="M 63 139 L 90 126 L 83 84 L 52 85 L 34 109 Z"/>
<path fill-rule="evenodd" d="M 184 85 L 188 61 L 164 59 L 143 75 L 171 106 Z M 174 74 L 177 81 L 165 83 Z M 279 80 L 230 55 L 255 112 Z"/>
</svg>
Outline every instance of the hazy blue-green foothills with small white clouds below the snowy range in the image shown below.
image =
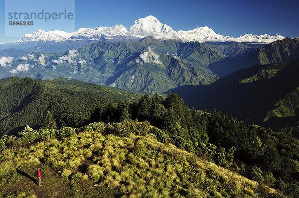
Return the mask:
<svg viewBox="0 0 299 198">
<path fill-rule="evenodd" d="M 53 79 L 60 76 L 125 88 L 163 93 L 184 85 L 207 85 L 218 78 L 207 68 L 225 56 L 199 42 L 155 40 L 98 42 L 62 54 L 32 53 L 8 60 L 0 77 Z M 3 62 L 5 61 L 3 60 Z"/>
</svg>

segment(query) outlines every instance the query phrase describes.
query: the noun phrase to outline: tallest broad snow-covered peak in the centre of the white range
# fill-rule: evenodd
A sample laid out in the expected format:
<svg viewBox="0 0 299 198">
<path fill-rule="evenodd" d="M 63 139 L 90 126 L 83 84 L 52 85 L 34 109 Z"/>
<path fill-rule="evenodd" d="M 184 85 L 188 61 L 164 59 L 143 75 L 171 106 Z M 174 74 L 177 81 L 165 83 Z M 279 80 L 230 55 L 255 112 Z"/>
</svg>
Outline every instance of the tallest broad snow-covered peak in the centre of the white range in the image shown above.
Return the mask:
<svg viewBox="0 0 299 198">
<path fill-rule="evenodd" d="M 136 20 L 128 33 L 131 36 L 145 37 L 159 33 L 174 33 L 174 31 L 170 26 L 162 24 L 156 17 L 149 15 Z"/>
</svg>

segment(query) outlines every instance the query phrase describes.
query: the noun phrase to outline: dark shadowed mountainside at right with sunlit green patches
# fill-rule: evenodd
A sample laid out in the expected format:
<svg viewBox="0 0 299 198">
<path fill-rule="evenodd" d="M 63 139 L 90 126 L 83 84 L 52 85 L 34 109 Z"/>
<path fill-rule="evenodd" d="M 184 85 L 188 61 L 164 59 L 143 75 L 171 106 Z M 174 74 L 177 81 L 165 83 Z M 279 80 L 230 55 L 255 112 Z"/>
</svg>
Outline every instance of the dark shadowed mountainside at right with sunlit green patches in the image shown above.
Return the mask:
<svg viewBox="0 0 299 198">
<path fill-rule="evenodd" d="M 299 59 L 256 65 L 235 72 L 209 86 L 171 90 L 197 109 L 225 110 L 245 123 L 283 129 L 299 137 Z M 288 133 L 287 132 L 287 133 Z"/>
</svg>

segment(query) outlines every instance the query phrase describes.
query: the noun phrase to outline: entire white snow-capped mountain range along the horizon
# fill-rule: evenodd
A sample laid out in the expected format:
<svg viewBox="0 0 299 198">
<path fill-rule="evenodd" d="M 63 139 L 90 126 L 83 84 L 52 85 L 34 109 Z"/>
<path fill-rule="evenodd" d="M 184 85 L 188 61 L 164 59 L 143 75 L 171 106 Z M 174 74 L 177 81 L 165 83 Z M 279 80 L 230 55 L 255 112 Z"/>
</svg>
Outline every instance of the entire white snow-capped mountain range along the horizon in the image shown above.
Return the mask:
<svg viewBox="0 0 299 198">
<path fill-rule="evenodd" d="M 178 39 L 182 41 L 235 41 L 235 42 L 252 42 L 252 43 L 271 43 L 276 40 L 284 39 L 281 35 L 270 36 L 245 34 L 238 38 L 223 36 L 215 33 L 208 26 L 197 27 L 189 31 L 174 31 L 170 26 L 162 24 L 156 17 L 147 16 L 134 22 L 129 31 L 123 25 L 112 27 L 80 28 L 75 32 L 64 32 L 60 30 L 43 31 L 39 29 L 33 34 L 26 34 L 14 43 L 27 42 L 60 42 L 65 40 L 97 40 L 97 39 L 138 39 L 146 36 L 152 36 L 156 39 Z"/>
</svg>

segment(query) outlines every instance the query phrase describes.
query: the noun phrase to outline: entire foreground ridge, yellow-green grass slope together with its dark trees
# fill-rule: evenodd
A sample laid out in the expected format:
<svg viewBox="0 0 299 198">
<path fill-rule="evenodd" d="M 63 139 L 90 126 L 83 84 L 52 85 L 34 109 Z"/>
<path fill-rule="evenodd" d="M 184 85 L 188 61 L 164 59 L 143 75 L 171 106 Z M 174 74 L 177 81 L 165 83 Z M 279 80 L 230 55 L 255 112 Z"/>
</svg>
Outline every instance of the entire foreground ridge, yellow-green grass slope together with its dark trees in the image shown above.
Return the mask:
<svg viewBox="0 0 299 198">
<path fill-rule="evenodd" d="M 52 124 L 0 139 L 0 196 L 299 195 L 299 140 L 215 109 L 188 109 L 177 94 L 98 104 L 80 128 L 55 129 L 46 119 Z M 37 166 L 44 174 L 38 189 Z"/>
</svg>

